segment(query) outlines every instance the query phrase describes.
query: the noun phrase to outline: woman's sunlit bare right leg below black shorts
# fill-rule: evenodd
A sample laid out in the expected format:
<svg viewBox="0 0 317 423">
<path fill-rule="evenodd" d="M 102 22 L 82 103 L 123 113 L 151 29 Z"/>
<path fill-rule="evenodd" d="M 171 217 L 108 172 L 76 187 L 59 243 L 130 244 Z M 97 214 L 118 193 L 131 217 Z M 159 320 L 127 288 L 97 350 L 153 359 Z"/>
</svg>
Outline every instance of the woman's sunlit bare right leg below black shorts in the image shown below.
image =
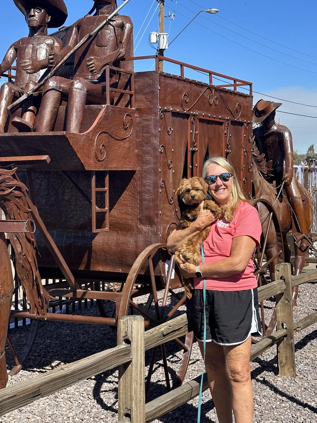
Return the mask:
<svg viewBox="0 0 317 423">
<path fill-rule="evenodd" d="M 226 372 L 231 385 L 235 423 L 252 423 L 253 421 L 254 403 L 250 352 L 251 336 L 241 344 L 224 347 Z"/>
</svg>

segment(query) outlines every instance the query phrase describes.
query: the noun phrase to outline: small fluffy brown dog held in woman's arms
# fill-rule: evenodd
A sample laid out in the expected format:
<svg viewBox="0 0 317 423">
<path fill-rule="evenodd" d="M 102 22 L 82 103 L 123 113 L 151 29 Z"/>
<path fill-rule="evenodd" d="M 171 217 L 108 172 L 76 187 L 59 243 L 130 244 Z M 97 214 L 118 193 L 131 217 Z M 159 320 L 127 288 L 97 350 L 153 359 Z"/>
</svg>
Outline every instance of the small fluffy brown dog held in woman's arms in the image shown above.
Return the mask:
<svg viewBox="0 0 317 423">
<path fill-rule="evenodd" d="M 232 212 L 230 209 L 218 206 L 215 201 L 205 200 L 208 192 L 208 184 L 202 178 L 195 176 L 191 179 L 182 179 L 180 186 L 176 191 L 176 195 L 179 195 L 181 200 L 188 206 L 182 213 L 178 229 L 184 229 L 191 225 L 197 219 L 200 209 L 200 203 L 204 201 L 204 209 L 210 210 L 216 219 L 220 216 L 224 216 L 227 222 L 231 222 L 233 219 Z M 191 239 L 188 239 L 182 247 L 175 252 L 175 261 L 177 264 L 183 264 L 181 257 L 195 266 L 198 266 L 202 261 L 201 247 L 202 242 L 208 237 L 210 232 L 210 226 L 203 229 L 198 235 Z M 193 283 L 191 279 L 183 278 L 183 285 L 185 287 L 185 293 L 187 298 L 191 298 L 191 292 L 193 289 Z"/>
</svg>

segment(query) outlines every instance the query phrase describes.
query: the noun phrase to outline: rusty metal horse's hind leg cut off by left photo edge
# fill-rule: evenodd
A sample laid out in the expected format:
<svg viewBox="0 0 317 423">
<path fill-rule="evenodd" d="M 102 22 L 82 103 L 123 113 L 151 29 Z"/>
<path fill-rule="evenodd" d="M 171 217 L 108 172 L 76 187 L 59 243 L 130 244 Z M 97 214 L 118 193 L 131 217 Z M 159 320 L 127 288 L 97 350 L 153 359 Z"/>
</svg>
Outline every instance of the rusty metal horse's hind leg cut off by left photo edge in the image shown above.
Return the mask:
<svg viewBox="0 0 317 423">
<path fill-rule="evenodd" d="M 8 334 L 13 291 L 14 283 L 8 247 L 4 234 L 0 233 L 0 389 L 4 388 L 8 382 L 5 341 Z"/>
</svg>

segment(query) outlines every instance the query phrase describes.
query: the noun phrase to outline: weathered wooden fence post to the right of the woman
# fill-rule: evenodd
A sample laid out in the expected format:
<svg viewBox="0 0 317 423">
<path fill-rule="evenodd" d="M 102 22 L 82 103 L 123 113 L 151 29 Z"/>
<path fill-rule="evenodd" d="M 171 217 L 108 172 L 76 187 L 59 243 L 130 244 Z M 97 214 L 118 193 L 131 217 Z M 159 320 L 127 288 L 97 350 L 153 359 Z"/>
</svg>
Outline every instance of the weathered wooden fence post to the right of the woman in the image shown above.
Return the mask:
<svg viewBox="0 0 317 423">
<path fill-rule="evenodd" d="M 276 304 L 277 330 L 283 329 L 286 324 L 287 336 L 277 343 L 277 362 L 281 376 L 296 377 L 294 321 L 292 303 L 292 273 L 289 263 L 280 263 L 275 266 L 276 278 L 283 279 L 286 291 L 279 294 Z"/>
</svg>

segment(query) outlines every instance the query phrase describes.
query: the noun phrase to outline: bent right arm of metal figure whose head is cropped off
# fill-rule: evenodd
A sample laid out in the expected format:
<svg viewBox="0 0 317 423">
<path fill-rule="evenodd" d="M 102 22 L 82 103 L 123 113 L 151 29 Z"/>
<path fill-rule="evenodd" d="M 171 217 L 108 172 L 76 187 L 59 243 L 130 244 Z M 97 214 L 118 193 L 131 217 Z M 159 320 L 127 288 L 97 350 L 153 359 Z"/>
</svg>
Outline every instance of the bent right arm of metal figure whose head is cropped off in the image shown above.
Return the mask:
<svg viewBox="0 0 317 423">
<path fill-rule="evenodd" d="M 118 49 L 114 52 L 102 56 L 102 57 L 96 57 L 92 56 L 87 59 L 87 68 L 90 71 L 90 73 L 98 73 L 101 71 L 104 66 L 109 65 L 116 60 L 120 60 L 126 55 L 126 49 L 128 47 L 128 42 L 131 37 L 133 24 L 131 19 L 128 16 L 120 16 L 120 20 L 122 21 L 121 30 L 122 30 L 122 36 L 119 41 Z"/>
</svg>

